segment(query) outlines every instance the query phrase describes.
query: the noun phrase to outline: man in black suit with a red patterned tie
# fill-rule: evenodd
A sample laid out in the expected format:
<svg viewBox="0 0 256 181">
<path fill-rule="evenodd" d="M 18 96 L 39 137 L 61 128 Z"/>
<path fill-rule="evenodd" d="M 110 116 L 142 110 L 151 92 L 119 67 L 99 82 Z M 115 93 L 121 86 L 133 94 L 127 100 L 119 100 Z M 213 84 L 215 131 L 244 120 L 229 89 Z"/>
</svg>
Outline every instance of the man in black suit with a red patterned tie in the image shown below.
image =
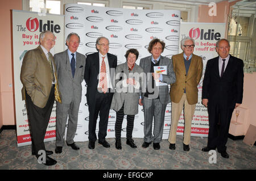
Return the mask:
<svg viewBox="0 0 256 181">
<path fill-rule="evenodd" d="M 109 40 L 102 36 L 96 40 L 98 52 L 89 54 L 86 58 L 84 79 L 87 85 L 86 98 L 89 106 L 89 149 L 94 149 L 96 124 L 100 115 L 98 143 L 109 148 L 105 140 L 108 128 L 109 110 L 113 98 L 113 83 L 111 72 L 117 67 L 117 56 L 109 52 Z M 114 75 L 114 74 L 113 74 Z"/>
</svg>

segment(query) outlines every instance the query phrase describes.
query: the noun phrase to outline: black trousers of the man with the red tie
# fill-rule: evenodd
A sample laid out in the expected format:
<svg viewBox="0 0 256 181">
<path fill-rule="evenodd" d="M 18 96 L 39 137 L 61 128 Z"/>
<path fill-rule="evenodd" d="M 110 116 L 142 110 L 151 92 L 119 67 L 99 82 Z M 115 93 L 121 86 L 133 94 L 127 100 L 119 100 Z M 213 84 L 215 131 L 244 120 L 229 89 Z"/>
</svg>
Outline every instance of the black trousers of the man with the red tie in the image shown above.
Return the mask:
<svg viewBox="0 0 256 181">
<path fill-rule="evenodd" d="M 113 98 L 112 92 L 100 93 L 95 92 L 95 99 L 90 102 L 89 106 L 89 141 L 95 142 L 96 136 L 96 124 L 98 116 L 100 116 L 99 129 L 98 129 L 98 141 L 104 142 L 106 137 L 106 131 L 109 121 L 109 110 Z"/>
</svg>

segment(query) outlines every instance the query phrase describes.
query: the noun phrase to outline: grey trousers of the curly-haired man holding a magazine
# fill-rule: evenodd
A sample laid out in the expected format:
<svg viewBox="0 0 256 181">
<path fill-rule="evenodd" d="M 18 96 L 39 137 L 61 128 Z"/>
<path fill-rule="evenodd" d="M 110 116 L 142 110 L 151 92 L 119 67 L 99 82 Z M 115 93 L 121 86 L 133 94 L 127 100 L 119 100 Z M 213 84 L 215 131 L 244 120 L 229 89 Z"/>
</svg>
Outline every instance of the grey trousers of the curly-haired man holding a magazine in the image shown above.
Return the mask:
<svg viewBox="0 0 256 181">
<path fill-rule="evenodd" d="M 144 141 L 159 143 L 163 137 L 164 115 L 167 104 L 162 104 L 159 99 L 142 100 L 144 110 Z M 154 117 L 154 131 L 152 135 L 152 121 Z"/>
</svg>

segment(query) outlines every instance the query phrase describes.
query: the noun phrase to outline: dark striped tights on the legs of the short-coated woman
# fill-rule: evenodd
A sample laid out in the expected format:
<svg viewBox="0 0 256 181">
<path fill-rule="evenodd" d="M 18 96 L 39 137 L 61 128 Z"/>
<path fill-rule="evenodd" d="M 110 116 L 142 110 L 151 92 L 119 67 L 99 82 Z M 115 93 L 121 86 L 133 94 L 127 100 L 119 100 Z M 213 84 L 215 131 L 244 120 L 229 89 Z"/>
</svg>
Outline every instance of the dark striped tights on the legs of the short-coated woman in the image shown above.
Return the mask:
<svg viewBox="0 0 256 181">
<path fill-rule="evenodd" d="M 117 119 L 115 120 L 115 139 L 120 140 L 121 139 L 121 129 L 122 129 L 122 123 L 123 123 L 123 116 L 125 114 L 123 113 L 123 107 L 125 103 L 123 103 L 122 108 L 117 111 Z M 135 115 L 127 115 L 127 127 L 126 127 L 126 138 L 131 139 L 133 136 L 133 125 L 134 125 L 134 117 Z"/>
</svg>

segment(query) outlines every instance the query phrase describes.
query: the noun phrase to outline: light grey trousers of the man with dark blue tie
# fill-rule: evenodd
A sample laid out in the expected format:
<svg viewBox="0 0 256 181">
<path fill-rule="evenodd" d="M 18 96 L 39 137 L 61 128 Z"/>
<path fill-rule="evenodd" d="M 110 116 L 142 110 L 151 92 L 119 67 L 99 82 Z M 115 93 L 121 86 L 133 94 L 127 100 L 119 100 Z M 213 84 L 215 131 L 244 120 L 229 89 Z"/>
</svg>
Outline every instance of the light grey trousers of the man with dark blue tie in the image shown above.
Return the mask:
<svg viewBox="0 0 256 181">
<path fill-rule="evenodd" d="M 77 119 L 80 103 L 60 104 L 56 108 L 56 146 L 64 146 L 64 134 L 67 124 L 67 144 L 73 144 L 77 128 Z"/>
</svg>

